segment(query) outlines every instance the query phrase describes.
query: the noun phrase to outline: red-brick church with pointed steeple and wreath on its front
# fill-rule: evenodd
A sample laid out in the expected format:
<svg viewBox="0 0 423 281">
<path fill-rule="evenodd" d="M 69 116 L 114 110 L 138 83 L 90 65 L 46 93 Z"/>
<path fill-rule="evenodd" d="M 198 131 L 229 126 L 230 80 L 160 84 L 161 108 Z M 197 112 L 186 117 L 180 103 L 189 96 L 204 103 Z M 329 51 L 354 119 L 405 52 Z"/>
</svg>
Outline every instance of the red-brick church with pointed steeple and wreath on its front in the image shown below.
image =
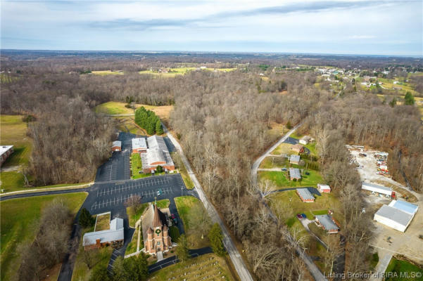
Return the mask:
<svg viewBox="0 0 423 281">
<path fill-rule="evenodd" d="M 159 251 L 169 251 L 173 244 L 169 235 L 168 219 L 156 204 L 152 204 L 149 211 L 153 212 L 153 218 L 145 227 L 143 222 L 144 252 L 156 255 Z"/>
</svg>

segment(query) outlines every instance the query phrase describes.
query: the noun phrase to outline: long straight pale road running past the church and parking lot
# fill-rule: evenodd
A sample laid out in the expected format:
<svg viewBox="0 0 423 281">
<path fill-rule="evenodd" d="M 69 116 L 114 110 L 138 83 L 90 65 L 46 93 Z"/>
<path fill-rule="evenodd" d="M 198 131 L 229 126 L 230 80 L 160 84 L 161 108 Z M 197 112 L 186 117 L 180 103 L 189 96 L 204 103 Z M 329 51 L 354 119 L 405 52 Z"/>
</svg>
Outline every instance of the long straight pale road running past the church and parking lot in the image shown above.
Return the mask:
<svg viewBox="0 0 423 281">
<path fill-rule="evenodd" d="M 187 169 L 189 177 L 191 178 L 191 181 L 194 183 L 194 187 L 198 193 L 198 197 L 200 197 L 201 202 L 203 202 L 204 207 L 206 207 L 206 210 L 208 211 L 208 214 L 211 220 L 215 223 L 218 223 L 220 228 L 222 229 L 223 243 L 225 244 L 229 257 L 231 258 L 231 261 L 234 264 L 234 268 L 236 269 L 236 272 L 238 273 L 239 278 L 242 281 L 244 280 L 253 281 L 253 277 L 251 277 L 251 273 L 248 271 L 248 268 L 246 267 L 244 260 L 239 254 L 238 249 L 236 249 L 235 244 L 232 241 L 231 236 L 229 235 L 229 231 L 227 230 L 225 226 L 225 223 L 223 223 L 222 218 L 220 218 L 219 214 L 217 214 L 215 207 L 213 206 L 213 204 L 210 203 L 210 201 L 208 201 L 208 198 L 206 197 L 206 194 L 204 193 L 203 188 L 201 188 L 201 184 L 198 182 L 196 175 L 194 174 L 194 171 L 191 169 L 191 165 L 189 164 L 187 157 L 185 157 L 184 151 L 182 150 L 181 145 L 179 145 L 178 141 L 168 131 L 168 128 L 166 128 L 164 124 L 162 124 L 162 126 L 163 126 L 163 131 L 165 131 L 165 133 L 168 135 L 168 138 L 170 139 L 170 141 L 172 141 L 173 145 L 179 152 L 179 155 L 181 156 L 182 162 L 184 162 L 184 165 L 185 165 L 185 168 Z"/>
</svg>

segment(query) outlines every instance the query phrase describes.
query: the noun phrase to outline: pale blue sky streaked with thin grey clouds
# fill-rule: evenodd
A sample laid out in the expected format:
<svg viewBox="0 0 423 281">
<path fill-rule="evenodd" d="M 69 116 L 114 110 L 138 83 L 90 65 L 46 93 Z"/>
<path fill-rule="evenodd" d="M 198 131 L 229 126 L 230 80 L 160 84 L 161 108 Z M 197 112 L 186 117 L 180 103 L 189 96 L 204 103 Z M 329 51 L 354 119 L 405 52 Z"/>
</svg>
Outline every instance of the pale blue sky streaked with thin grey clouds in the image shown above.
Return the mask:
<svg viewBox="0 0 423 281">
<path fill-rule="evenodd" d="M 0 0 L 0 46 L 422 56 L 422 3 Z"/>
</svg>

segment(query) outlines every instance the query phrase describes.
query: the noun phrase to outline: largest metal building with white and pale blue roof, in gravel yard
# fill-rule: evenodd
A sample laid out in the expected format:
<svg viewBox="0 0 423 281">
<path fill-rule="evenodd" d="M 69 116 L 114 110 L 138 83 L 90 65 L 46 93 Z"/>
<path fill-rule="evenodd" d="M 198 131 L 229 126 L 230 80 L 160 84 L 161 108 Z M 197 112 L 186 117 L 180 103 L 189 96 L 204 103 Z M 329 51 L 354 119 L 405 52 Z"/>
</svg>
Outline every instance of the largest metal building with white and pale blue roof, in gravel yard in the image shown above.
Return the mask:
<svg viewBox="0 0 423 281">
<path fill-rule="evenodd" d="M 373 219 L 389 228 L 405 232 L 417 209 L 418 207 L 415 204 L 393 200 L 389 205 L 382 205 L 374 214 Z"/>
</svg>

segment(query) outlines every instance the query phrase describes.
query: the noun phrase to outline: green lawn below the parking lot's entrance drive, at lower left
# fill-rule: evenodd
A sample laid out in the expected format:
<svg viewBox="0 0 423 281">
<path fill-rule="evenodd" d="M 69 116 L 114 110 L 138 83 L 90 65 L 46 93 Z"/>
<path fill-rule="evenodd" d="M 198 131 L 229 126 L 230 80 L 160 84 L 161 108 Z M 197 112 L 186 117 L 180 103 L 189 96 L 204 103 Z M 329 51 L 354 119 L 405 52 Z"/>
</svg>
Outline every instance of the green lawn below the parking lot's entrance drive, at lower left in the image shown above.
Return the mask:
<svg viewBox="0 0 423 281">
<path fill-rule="evenodd" d="M 37 233 L 37 220 L 46 204 L 57 198 L 68 204 L 76 214 L 87 197 L 78 192 L 65 195 L 46 195 L 0 202 L 1 208 L 1 280 L 10 280 L 18 267 L 16 247 L 23 241 L 32 241 Z"/>
</svg>

